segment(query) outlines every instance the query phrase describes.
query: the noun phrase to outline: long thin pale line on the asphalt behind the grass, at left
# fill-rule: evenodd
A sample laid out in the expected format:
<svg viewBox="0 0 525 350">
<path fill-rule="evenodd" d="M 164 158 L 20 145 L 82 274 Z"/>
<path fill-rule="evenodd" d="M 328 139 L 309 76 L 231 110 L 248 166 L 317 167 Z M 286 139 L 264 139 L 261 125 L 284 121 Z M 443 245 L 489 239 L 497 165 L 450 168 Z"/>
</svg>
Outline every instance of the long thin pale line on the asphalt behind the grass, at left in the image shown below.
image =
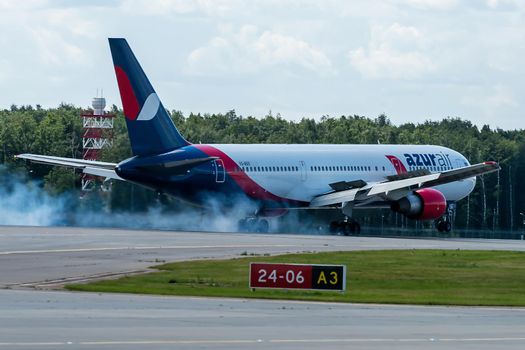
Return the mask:
<svg viewBox="0 0 525 350">
<path fill-rule="evenodd" d="M 100 247 L 100 248 L 69 248 L 42 250 L 14 250 L 0 252 L 0 255 L 42 254 L 42 253 L 78 253 L 112 250 L 151 250 L 151 249 L 210 249 L 210 248 L 290 248 L 298 244 L 233 244 L 233 245 L 173 245 L 173 246 L 139 246 L 139 247 Z"/>
</svg>

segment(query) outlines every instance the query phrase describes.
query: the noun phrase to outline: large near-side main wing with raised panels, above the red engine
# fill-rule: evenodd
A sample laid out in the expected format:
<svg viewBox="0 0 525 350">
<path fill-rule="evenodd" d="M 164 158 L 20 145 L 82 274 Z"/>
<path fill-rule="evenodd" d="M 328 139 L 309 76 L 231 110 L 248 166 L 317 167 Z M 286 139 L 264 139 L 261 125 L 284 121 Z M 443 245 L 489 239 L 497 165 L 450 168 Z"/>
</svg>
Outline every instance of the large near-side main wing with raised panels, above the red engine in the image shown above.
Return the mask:
<svg viewBox="0 0 525 350">
<path fill-rule="evenodd" d="M 418 188 L 433 187 L 449 182 L 460 181 L 474 176 L 492 173 L 500 170 L 496 162 L 484 162 L 470 165 L 459 169 L 453 169 L 442 173 L 415 171 L 406 174 L 391 176 L 387 181 L 376 183 L 365 183 L 356 181 L 349 184 L 349 188 L 344 189 L 343 183 L 331 184 L 335 190 L 315 197 L 310 202 L 310 207 L 324 207 L 346 202 L 362 202 L 374 196 L 382 199 L 397 200 L 406 195 L 409 191 Z"/>
</svg>

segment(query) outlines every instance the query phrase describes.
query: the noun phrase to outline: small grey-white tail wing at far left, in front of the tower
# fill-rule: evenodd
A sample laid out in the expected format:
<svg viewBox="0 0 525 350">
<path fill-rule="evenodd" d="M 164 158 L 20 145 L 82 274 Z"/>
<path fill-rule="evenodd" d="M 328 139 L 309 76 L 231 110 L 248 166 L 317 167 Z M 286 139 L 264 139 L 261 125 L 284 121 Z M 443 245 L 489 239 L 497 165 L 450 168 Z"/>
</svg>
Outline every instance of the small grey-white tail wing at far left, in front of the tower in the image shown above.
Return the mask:
<svg viewBox="0 0 525 350">
<path fill-rule="evenodd" d="M 102 176 L 106 179 L 124 180 L 115 172 L 116 163 L 99 162 L 95 160 L 84 160 L 75 158 L 64 158 L 54 156 L 42 156 L 39 154 L 24 153 L 15 156 L 20 159 L 28 159 L 39 164 L 57 165 L 69 168 L 82 169 L 84 174 Z"/>
</svg>

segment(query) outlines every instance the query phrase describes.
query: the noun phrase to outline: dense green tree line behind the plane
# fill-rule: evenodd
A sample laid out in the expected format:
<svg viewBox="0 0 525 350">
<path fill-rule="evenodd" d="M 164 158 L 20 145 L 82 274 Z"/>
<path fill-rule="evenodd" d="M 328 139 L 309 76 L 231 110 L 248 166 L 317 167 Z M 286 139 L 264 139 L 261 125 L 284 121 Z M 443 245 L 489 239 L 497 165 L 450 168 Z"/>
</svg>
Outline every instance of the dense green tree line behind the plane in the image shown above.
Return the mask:
<svg viewBox="0 0 525 350">
<path fill-rule="evenodd" d="M 104 150 L 105 161 L 118 162 L 131 156 L 125 120 L 116 106 L 113 146 Z M 0 162 L 13 173 L 29 174 L 53 195 L 78 191 L 80 175 L 69 169 L 15 160 L 19 153 L 82 157 L 82 109 L 72 105 L 44 109 L 11 106 L 0 110 Z M 175 125 L 192 143 L 335 143 L 335 144 L 434 144 L 452 148 L 471 163 L 495 160 L 499 174 L 478 178 L 469 198 L 458 203 L 455 225 L 459 228 L 518 229 L 525 212 L 525 130 L 481 128 L 461 118 L 393 125 L 386 115 L 321 116 L 289 121 L 271 112 L 263 118 L 227 113 L 187 116 L 172 111 Z M 1 182 L 0 182 L 1 183 Z M 159 202 L 152 191 L 116 182 L 111 195 L 98 194 L 110 210 L 145 210 Z M 166 202 L 169 200 L 163 199 Z M 94 201 L 94 202 L 97 202 Z M 162 200 L 161 200 L 162 202 Z M 131 203 L 131 204 L 130 204 Z M 100 205 L 100 203 L 98 204 Z M 397 222 L 385 212 L 381 220 Z M 377 219 L 371 219 L 377 223 Z"/>
</svg>

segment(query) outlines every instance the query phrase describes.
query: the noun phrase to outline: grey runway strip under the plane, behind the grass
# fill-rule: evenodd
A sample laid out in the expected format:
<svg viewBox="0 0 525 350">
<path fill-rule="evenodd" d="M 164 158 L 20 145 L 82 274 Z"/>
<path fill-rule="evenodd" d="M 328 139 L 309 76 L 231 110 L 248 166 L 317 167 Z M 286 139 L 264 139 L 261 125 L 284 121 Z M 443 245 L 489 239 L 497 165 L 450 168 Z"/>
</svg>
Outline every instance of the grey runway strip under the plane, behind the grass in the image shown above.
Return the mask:
<svg viewBox="0 0 525 350">
<path fill-rule="evenodd" d="M 436 240 L 0 226 L 0 288 L 53 288 L 166 261 L 369 249 L 525 251 L 525 241 Z"/>
</svg>

